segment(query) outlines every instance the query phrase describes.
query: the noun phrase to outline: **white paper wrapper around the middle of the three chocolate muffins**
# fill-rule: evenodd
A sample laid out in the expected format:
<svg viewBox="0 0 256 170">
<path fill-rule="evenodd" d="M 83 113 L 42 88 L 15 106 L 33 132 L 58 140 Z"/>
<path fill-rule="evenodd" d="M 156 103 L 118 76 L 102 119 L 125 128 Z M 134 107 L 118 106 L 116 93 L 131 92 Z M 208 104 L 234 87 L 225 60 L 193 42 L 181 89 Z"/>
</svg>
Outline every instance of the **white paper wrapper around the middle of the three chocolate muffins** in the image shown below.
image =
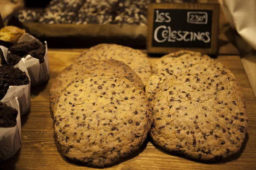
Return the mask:
<svg viewBox="0 0 256 170">
<path fill-rule="evenodd" d="M 15 68 L 19 68 L 21 71 L 25 72 L 27 77 L 29 78 L 28 71 L 26 69 L 25 65 L 25 59 L 20 59 L 20 62 L 14 66 Z M 30 81 L 30 78 L 29 78 Z M 0 102 L 8 103 L 17 97 L 17 100 L 19 102 L 20 106 L 20 116 L 24 116 L 26 113 L 28 113 L 30 108 L 30 82 L 27 85 L 11 85 L 9 86 L 9 89 L 6 93 L 6 95 L 3 97 L 3 99 L 0 100 Z"/>
</svg>

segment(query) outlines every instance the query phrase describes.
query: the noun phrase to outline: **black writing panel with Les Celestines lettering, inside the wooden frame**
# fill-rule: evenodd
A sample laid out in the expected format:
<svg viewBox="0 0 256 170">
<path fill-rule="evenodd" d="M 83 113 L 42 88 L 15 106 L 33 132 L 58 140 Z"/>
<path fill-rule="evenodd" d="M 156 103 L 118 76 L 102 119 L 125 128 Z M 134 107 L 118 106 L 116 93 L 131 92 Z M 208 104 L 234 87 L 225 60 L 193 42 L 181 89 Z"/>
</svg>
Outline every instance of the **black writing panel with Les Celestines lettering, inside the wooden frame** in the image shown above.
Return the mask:
<svg viewBox="0 0 256 170">
<path fill-rule="evenodd" d="M 212 10 L 154 9 L 152 47 L 211 48 Z"/>
</svg>

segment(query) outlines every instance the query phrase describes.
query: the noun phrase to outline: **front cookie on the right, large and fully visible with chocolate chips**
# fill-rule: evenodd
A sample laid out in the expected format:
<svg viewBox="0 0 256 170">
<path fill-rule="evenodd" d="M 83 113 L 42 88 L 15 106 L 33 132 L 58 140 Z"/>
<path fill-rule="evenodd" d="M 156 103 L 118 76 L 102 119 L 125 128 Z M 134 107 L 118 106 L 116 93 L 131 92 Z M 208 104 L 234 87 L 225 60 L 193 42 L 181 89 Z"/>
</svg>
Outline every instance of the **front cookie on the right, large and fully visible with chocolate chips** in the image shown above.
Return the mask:
<svg viewBox="0 0 256 170">
<path fill-rule="evenodd" d="M 191 159 L 215 161 L 239 151 L 247 116 L 241 88 L 226 72 L 176 75 L 150 99 L 157 146 Z"/>
</svg>

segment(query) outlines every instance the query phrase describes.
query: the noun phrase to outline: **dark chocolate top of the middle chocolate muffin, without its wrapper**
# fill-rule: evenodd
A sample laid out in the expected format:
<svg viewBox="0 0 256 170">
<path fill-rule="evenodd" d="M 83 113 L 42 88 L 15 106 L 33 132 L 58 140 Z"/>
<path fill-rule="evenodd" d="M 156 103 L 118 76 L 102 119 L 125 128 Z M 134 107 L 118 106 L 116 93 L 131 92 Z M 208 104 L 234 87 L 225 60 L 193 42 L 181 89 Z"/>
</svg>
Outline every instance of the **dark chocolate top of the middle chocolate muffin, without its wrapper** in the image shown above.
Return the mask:
<svg viewBox="0 0 256 170">
<path fill-rule="evenodd" d="M 10 85 L 27 85 L 29 78 L 26 73 L 11 65 L 0 67 L 0 100 L 6 95 Z"/>
</svg>

